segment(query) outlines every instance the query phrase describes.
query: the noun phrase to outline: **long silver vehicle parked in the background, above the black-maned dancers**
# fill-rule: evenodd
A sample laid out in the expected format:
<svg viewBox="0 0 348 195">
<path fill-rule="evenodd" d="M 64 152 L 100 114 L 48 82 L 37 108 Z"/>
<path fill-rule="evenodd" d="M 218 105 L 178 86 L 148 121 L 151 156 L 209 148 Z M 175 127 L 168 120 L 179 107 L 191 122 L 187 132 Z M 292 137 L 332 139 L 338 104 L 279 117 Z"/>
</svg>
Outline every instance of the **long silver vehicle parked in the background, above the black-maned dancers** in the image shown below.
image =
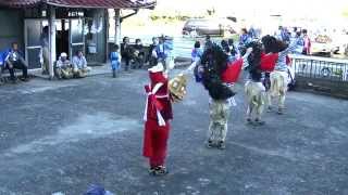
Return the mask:
<svg viewBox="0 0 348 195">
<path fill-rule="evenodd" d="M 216 35 L 224 36 L 228 31 L 235 34 L 233 22 L 228 20 L 188 20 L 183 27 L 184 36 Z"/>
</svg>

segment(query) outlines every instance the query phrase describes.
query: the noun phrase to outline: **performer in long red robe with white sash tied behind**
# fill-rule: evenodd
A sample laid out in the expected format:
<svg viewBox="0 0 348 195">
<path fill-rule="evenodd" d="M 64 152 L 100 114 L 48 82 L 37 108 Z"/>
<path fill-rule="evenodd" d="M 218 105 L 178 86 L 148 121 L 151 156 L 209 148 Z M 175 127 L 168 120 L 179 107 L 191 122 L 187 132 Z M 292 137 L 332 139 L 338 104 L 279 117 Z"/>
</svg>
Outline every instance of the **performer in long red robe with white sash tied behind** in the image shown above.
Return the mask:
<svg viewBox="0 0 348 195">
<path fill-rule="evenodd" d="M 144 115 L 144 156 L 149 158 L 151 176 L 164 176 L 166 146 L 170 135 L 170 120 L 173 119 L 172 103 L 169 93 L 169 80 L 161 63 L 149 69 L 150 83 L 145 87 L 147 93 Z"/>
</svg>

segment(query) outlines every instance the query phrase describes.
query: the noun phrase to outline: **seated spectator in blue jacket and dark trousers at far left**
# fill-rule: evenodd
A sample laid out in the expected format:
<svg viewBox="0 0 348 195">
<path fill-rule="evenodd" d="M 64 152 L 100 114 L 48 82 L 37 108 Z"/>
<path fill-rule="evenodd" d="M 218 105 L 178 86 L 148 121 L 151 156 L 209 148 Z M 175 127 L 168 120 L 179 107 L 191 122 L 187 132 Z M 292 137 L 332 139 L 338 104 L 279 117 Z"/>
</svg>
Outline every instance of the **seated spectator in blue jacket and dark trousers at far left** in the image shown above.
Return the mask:
<svg viewBox="0 0 348 195">
<path fill-rule="evenodd" d="M 4 68 L 8 68 L 10 72 L 10 78 L 12 82 L 16 81 L 14 77 L 14 68 L 23 70 L 22 81 L 28 81 L 28 65 L 26 64 L 23 54 L 18 50 L 18 44 L 16 42 L 12 43 L 12 48 L 9 49 L 3 55 Z"/>
</svg>

